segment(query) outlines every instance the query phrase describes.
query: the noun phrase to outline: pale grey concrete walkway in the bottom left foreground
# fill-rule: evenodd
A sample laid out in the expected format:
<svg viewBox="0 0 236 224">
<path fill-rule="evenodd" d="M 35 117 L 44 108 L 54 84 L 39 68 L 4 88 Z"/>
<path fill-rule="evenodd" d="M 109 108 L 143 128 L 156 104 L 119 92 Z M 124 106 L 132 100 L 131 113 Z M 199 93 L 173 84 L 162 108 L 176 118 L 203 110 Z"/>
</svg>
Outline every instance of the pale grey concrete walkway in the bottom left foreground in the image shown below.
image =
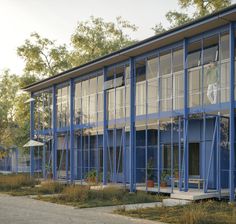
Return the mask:
<svg viewBox="0 0 236 224">
<path fill-rule="evenodd" d="M 70 206 L 0 194 L 1 224 L 153 224 L 111 214 L 114 207 L 76 209 Z"/>
</svg>

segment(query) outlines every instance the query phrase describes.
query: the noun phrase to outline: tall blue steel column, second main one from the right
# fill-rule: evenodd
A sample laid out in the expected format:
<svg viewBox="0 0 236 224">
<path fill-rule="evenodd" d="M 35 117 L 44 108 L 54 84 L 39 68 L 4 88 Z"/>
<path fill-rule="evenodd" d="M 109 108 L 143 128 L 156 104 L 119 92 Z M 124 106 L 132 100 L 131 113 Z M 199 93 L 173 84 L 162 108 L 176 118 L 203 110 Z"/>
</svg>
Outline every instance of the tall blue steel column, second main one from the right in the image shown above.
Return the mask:
<svg viewBox="0 0 236 224">
<path fill-rule="evenodd" d="M 188 191 L 188 71 L 187 71 L 187 39 L 183 41 L 184 48 L 184 191 Z"/>
</svg>

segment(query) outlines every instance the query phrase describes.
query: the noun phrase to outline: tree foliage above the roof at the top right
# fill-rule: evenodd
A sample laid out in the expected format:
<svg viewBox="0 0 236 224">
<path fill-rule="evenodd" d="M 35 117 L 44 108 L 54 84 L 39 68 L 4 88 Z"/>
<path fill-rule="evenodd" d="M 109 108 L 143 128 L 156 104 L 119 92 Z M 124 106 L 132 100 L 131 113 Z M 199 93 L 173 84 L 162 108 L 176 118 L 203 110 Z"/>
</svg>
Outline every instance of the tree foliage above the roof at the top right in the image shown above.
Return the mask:
<svg viewBox="0 0 236 224">
<path fill-rule="evenodd" d="M 178 4 L 182 11 L 169 11 L 166 13 L 166 19 L 170 26 L 167 29 L 172 29 L 174 27 L 183 25 L 199 17 L 205 16 L 207 14 L 216 12 L 222 8 L 225 8 L 231 4 L 231 0 L 178 0 Z M 195 12 L 193 14 L 187 14 L 190 8 L 194 8 Z M 152 28 L 156 34 L 166 31 L 162 24 L 157 24 Z"/>
</svg>

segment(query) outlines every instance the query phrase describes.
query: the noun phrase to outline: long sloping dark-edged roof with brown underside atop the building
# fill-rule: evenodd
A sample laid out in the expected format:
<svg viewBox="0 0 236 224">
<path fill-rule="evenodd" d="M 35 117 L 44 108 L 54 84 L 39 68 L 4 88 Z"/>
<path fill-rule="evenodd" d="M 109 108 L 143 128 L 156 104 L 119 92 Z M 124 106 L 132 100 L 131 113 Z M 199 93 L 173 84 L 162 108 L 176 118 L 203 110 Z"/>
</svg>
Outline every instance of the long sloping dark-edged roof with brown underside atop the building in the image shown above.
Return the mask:
<svg viewBox="0 0 236 224">
<path fill-rule="evenodd" d="M 236 21 L 236 4 L 161 34 L 139 41 L 126 48 L 66 70 L 52 77 L 35 82 L 24 87 L 23 90 L 28 92 L 36 92 L 48 88 L 53 84 L 62 83 L 66 80 L 69 80 L 70 78 L 75 78 L 102 69 L 104 66 L 109 66 L 114 63 L 127 60 L 130 57 L 141 55 L 145 52 L 178 42 L 184 38 L 189 38 L 194 35 L 206 32 L 209 29 L 226 25 L 231 21 Z"/>
</svg>

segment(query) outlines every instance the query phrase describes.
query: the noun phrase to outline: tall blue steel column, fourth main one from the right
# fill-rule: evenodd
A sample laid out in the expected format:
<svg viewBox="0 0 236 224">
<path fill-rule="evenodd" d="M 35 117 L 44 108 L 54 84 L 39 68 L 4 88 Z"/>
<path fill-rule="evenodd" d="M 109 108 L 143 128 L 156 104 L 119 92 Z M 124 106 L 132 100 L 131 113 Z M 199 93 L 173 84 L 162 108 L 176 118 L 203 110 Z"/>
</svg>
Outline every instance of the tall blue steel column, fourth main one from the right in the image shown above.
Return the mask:
<svg viewBox="0 0 236 224">
<path fill-rule="evenodd" d="M 106 91 L 107 68 L 103 69 L 103 185 L 107 184 L 107 91 Z"/>
</svg>

